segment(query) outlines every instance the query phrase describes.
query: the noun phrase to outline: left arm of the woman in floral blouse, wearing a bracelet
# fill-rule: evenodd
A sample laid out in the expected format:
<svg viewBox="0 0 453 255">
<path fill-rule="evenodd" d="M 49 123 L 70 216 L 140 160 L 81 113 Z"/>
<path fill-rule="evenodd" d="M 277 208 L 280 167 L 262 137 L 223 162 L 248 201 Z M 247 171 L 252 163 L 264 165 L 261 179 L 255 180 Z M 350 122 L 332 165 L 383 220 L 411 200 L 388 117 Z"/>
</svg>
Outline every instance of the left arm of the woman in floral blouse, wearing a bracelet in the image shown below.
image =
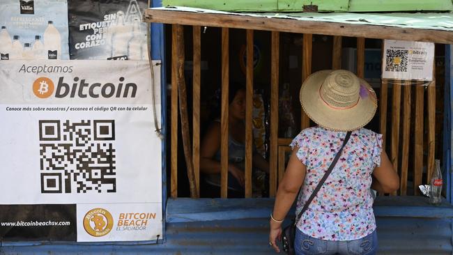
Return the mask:
<svg viewBox="0 0 453 255">
<path fill-rule="evenodd" d="M 272 242 L 272 247 L 276 252 L 280 252 L 276 242 L 277 239 L 280 240 L 282 235 L 283 219 L 286 217 L 286 214 L 293 205 L 295 197 L 298 195 L 300 186 L 302 186 L 305 179 L 305 171 L 307 170 L 296 155 L 298 150 L 298 147 L 294 147 L 283 180 L 279 183 L 274 210 L 272 211 L 272 217 L 277 221 L 270 219 L 269 241 Z"/>
</svg>

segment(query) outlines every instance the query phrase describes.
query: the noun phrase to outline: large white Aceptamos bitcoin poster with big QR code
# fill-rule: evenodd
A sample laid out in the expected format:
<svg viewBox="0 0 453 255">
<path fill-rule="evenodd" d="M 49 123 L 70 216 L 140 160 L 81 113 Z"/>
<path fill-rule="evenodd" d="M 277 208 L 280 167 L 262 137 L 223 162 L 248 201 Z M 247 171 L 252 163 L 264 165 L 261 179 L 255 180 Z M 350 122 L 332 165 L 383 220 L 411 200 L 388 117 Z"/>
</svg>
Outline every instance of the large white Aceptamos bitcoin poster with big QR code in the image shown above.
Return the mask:
<svg viewBox="0 0 453 255">
<path fill-rule="evenodd" d="M 0 79 L 1 240 L 162 238 L 148 61 L 8 61 Z"/>
</svg>

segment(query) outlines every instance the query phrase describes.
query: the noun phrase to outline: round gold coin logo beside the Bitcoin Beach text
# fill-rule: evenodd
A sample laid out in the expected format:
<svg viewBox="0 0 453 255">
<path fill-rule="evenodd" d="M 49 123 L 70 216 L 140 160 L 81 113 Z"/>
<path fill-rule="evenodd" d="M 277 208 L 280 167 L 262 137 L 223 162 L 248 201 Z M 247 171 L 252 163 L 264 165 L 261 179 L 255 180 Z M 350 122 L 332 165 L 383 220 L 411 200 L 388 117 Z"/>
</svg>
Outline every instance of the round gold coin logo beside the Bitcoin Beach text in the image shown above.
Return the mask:
<svg viewBox="0 0 453 255">
<path fill-rule="evenodd" d="M 84 217 L 84 229 L 94 237 L 107 235 L 112 231 L 113 224 L 114 220 L 110 212 L 102 208 L 89 210 Z"/>
</svg>

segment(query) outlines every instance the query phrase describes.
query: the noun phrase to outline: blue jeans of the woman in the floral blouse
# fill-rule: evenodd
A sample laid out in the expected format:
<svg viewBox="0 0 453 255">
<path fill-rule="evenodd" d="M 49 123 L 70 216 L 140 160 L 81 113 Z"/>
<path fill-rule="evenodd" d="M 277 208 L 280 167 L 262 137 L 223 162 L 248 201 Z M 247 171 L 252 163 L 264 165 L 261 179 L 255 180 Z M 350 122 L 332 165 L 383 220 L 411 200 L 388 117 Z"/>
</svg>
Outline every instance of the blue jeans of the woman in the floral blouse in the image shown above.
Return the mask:
<svg viewBox="0 0 453 255">
<path fill-rule="evenodd" d="M 296 229 L 294 249 L 295 254 L 298 255 L 374 255 L 378 250 L 378 234 L 375 230 L 373 233 L 358 240 L 330 241 L 312 238 L 302 233 L 299 229 Z"/>
</svg>

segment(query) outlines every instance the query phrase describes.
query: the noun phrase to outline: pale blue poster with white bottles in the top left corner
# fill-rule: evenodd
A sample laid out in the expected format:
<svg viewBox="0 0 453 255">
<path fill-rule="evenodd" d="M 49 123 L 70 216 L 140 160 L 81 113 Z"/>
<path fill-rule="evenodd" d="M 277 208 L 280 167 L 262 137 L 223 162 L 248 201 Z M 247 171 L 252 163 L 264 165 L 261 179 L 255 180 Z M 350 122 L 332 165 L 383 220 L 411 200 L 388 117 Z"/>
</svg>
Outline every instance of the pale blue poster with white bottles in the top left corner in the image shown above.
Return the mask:
<svg viewBox="0 0 453 255">
<path fill-rule="evenodd" d="M 1 60 L 69 59 L 66 0 L 1 0 Z"/>
</svg>

